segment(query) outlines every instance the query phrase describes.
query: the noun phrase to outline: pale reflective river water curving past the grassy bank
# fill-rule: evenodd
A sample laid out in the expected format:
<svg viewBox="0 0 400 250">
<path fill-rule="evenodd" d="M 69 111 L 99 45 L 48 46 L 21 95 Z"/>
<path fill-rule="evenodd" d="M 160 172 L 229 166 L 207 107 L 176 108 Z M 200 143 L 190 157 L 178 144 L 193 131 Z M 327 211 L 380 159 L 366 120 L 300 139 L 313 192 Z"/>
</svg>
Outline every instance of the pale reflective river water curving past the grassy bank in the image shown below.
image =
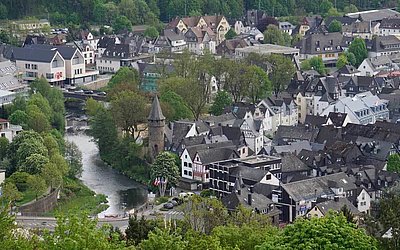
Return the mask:
<svg viewBox="0 0 400 250">
<path fill-rule="evenodd" d="M 106 165 L 99 156 L 93 138 L 83 132 L 66 133 L 65 139 L 74 142 L 82 152 L 81 180 L 97 194 L 107 196 L 109 208 L 98 216 L 123 214 L 142 205 L 147 199 L 147 188 Z"/>
</svg>

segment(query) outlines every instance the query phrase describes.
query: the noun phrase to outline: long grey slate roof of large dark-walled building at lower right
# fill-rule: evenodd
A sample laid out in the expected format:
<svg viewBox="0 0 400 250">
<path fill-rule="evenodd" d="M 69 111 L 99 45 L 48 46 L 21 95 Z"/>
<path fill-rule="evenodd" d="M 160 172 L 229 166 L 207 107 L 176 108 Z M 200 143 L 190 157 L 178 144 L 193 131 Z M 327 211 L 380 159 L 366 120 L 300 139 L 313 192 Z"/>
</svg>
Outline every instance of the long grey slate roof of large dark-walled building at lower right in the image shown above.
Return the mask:
<svg viewBox="0 0 400 250">
<path fill-rule="evenodd" d="M 328 183 L 329 182 L 329 183 Z M 330 174 L 307 180 L 282 184 L 282 188 L 295 201 L 310 200 L 321 196 L 333 196 L 333 186 L 343 188 L 344 192 L 354 190 L 357 186 L 354 180 L 345 173 Z"/>
</svg>

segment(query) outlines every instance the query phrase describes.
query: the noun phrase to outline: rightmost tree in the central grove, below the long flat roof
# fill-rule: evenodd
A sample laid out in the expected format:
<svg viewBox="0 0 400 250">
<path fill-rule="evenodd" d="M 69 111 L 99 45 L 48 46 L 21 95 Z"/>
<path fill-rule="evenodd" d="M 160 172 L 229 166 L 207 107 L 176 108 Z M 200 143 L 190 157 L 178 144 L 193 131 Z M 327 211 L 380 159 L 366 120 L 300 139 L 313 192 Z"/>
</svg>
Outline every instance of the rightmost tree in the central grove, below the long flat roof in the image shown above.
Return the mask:
<svg viewBox="0 0 400 250">
<path fill-rule="evenodd" d="M 272 71 L 269 74 L 272 90 L 275 95 L 278 95 L 286 88 L 296 69 L 292 61 L 282 55 L 270 55 L 267 60 L 272 64 Z"/>
</svg>

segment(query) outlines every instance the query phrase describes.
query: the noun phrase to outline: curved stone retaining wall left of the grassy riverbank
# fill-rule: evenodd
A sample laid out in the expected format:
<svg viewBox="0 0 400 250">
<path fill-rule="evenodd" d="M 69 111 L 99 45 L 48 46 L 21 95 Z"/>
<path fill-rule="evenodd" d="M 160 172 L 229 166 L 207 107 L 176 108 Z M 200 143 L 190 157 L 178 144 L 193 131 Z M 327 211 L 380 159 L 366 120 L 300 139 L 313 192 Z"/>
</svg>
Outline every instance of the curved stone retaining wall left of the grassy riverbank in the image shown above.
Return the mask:
<svg viewBox="0 0 400 250">
<path fill-rule="evenodd" d="M 54 207 L 57 205 L 57 196 L 59 190 L 60 189 L 57 188 L 46 197 L 43 197 L 32 203 L 20 206 L 18 208 L 18 211 L 23 216 L 37 216 L 54 209 Z"/>
</svg>

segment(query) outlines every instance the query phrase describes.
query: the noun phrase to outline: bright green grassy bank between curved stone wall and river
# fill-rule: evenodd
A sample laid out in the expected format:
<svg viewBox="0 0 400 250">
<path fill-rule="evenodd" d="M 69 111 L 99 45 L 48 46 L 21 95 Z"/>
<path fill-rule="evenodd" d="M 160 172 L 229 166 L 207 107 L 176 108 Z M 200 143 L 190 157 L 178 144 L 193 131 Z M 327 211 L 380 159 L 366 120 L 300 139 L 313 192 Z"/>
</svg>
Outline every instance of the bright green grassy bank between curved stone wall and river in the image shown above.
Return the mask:
<svg viewBox="0 0 400 250">
<path fill-rule="evenodd" d="M 49 215 L 77 214 L 87 212 L 90 215 L 98 214 L 108 208 L 106 196 L 96 194 L 80 180 L 65 179 L 57 207 Z"/>
</svg>

